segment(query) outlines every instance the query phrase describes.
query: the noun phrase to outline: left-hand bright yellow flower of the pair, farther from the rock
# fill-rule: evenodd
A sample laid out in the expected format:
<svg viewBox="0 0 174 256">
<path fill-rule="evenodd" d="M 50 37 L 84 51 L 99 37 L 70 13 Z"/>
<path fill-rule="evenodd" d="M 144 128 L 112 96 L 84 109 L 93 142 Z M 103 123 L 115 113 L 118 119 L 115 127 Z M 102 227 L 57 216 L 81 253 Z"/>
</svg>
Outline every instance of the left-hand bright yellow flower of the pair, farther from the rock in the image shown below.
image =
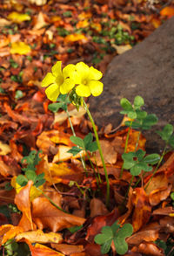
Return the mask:
<svg viewBox="0 0 174 256">
<path fill-rule="evenodd" d="M 75 86 L 74 73 L 76 68 L 73 64 L 69 64 L 61 70 L 62 61 L 52 66 L 51 72 L 44 77 L 41 86 L 47 87 L 45 93 L 49 100 L 56 101 L 60 93 L 66 94 Z"/>
</svg>

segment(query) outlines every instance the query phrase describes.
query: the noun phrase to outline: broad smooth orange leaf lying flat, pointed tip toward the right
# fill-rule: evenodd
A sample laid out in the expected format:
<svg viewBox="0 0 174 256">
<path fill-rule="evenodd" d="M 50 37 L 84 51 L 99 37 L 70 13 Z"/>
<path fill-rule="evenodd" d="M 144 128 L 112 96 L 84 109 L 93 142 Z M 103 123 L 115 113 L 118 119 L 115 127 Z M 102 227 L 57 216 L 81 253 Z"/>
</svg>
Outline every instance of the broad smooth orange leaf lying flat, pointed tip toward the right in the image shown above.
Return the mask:
<svg viewBox="0 0 174 256">
<path fill-rule="evenodd" d="M 50 228 L 52 232 L 73 225 L 83 225 L 85 221 L 85 218 L 79 218 L 58 210 L 45 197 L 37 197 L 32 201 L 32 217 L 39 229 Z"/>
</svg>

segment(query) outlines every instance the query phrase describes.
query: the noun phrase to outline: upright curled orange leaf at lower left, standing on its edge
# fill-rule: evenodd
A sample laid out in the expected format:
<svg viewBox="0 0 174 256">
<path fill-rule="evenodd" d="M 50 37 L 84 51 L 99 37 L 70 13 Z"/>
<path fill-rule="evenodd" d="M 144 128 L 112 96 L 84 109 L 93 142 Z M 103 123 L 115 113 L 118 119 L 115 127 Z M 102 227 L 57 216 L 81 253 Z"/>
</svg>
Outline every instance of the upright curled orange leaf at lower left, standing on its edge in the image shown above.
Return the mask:
<svg viewBox="0 0 174 256">
<path fill-rule="evenodd" d="M 23 216 L 18 225 L 22 226 L 25 232 L 34 229 L 30 212 L 30 189 L 32 184 L 33 182 L 29 181 L 15 197 L 17 208 L 23 212 Z"/>
</svg>

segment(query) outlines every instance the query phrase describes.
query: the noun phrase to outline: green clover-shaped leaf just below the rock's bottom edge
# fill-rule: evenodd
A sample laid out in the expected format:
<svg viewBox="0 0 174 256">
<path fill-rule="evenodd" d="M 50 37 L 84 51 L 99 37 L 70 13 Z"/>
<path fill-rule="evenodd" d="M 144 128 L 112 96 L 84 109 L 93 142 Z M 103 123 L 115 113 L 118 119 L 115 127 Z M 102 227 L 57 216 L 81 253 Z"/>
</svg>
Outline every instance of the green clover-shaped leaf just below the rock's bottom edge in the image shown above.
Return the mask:
<svg viewBox="0 0 174 256">
<path fill-rule="evenodd" d="M 137 176 L 142 170 L 151 171 L 151 165 L 156 164 L 160 156 L 158 154 L 145 156 L 145 151 L 138 149 L 137 152 L 124 153 L 122 158 L 124 160 L 124 169 L 130 170 L 131 175 Z"/>
</svg>

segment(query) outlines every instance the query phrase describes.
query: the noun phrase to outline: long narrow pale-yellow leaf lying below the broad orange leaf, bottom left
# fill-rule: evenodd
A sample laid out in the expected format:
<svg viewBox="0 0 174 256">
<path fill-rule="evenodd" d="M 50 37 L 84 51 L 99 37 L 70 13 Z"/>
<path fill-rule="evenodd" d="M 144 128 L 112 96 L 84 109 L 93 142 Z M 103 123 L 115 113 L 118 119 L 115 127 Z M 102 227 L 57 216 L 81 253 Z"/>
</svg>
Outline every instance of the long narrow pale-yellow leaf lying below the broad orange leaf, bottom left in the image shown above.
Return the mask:
<svg viewBox="0 0 174 256">
<path fill-rule="evenodd" d="M 23 232 L 17 235 L 16 240 L 19 241 L 21 239 L 27 239 L 31 243 L 60 243 L 62 242 L 62 235 L 59 233 L 49 232 L 44 233 L 41 230 L 31 231 L 31 232 Z"/>
</svg>

